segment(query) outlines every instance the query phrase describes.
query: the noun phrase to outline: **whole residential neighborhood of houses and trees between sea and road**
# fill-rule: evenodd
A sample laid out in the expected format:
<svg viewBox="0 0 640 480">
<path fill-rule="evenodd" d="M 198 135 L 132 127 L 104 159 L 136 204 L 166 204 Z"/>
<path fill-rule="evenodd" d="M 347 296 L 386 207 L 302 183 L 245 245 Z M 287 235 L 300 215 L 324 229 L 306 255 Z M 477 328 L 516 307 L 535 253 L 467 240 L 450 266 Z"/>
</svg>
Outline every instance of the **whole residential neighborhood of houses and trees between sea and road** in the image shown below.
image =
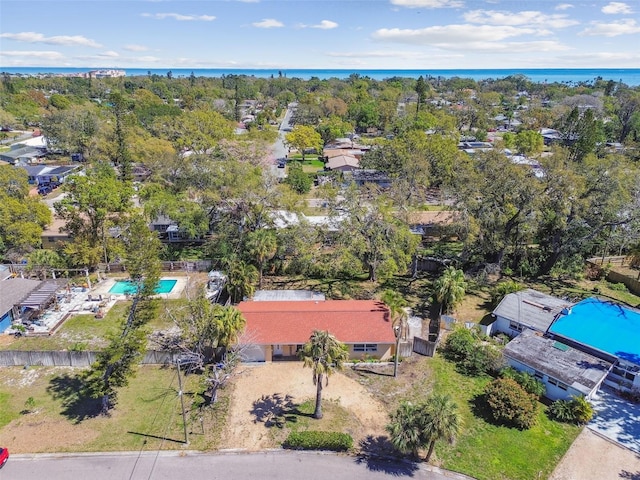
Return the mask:
<svg viewBox="0 0 640 480">
<path fill-rule="evenodd" d="M 636 86 L 0 88 L 5 468 L 308 449 L 565 480 L 606 450 L 599 478 L 640 472 Z"/>
</svg>

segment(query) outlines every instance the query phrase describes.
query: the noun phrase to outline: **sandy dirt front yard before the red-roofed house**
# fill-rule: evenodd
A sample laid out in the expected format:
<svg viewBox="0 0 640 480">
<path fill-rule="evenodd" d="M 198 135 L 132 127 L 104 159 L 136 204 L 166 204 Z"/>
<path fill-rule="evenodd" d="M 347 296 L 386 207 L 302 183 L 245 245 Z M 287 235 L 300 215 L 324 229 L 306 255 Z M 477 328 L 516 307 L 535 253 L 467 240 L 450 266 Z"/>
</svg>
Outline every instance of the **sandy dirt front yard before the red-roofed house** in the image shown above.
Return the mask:
<svg viewBox="0 0 640 480">
<path fill-rule="evenodd" d="M 223 449 L 260 450 L 278 447 L 263 418 L 256 414 L 254 402 L 263 405 L 262 410 L 278 400 L 300 404 L 314 399 L 316 387 L 311 370 L 301 362 L 275 362 L 256 366 L 243 365 L 233 380 L 227 427 L 222 436 Z M 323 400 L 335 401 L 347 410 L 359 428 L 350 432 L 354 444 L 368 435 L 384 435 L 389 417 L 383 406 L 359 383 L 341 373 L 329 378 L 329 385 L 322 391 Z M 266 401 L 265 401 L 266 400 Z M 264 408 L 264 407 L 267 408 Z"/>
</svg>

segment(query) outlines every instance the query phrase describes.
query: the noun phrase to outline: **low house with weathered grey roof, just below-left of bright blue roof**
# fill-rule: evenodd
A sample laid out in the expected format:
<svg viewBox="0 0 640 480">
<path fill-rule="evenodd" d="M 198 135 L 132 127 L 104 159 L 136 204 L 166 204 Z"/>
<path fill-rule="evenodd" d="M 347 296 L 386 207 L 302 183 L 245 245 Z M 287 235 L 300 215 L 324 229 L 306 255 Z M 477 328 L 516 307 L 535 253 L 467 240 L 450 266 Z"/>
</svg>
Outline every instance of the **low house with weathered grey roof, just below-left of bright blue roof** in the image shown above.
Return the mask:
<svg viewBox="0 0 640 480">
<path fill-rule="evenodd" d="M 502 353 L 513 368 L 540 380 L 546 388 L 545 396 L 551 400 L 572 396 L 590 399 L 612 368 L 611 362 L 530 329 L 511 340 Z"/>
</svg>

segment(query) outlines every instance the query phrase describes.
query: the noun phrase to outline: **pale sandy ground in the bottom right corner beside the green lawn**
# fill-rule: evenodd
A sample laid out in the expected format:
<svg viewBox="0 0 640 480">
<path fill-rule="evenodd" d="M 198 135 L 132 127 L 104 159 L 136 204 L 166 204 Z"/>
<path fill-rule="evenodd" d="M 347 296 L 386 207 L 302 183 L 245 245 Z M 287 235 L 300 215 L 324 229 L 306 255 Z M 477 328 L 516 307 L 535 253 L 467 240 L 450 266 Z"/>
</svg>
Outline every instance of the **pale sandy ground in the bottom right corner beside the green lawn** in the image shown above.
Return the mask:
<svg viewBox="0 0 640 480">
<path fill-rule="evenodd" d="M 640 456 L 582 430 L 549 480 L 638 480 Z"/>
</svg>

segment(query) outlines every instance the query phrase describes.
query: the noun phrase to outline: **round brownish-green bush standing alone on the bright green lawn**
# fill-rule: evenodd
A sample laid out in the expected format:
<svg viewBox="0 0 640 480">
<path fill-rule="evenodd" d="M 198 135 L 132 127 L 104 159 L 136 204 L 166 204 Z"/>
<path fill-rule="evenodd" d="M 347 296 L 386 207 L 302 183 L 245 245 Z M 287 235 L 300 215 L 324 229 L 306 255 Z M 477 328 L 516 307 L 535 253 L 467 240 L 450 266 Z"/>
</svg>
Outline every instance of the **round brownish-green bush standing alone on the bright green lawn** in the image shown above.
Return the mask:
<svg viewBox="0 0 640 480">
<path fill-rule="evenodd" d="M 536 398 L 510 378 L 497 378 L 487 385 L 485 399 L 496 422 L 526 430 L 535 425 Z"/>
</svg>

